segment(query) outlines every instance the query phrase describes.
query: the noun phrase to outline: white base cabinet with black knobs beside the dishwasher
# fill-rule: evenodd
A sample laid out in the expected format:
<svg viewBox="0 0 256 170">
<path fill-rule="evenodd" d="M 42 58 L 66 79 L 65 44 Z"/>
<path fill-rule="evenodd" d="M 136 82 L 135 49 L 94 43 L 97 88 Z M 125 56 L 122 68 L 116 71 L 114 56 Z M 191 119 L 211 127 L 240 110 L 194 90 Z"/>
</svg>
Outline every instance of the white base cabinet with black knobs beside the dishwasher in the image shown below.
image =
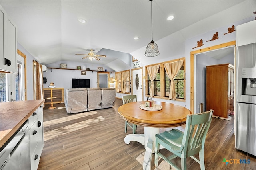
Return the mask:
<svg viewBox="0 0 256 170">
<path fill-rule="evenodd" d="M 44 147 L 43 107 L 40 106 L 29 118 L 30 162 L 31 169 L 36 170 Z"/>
</svg>

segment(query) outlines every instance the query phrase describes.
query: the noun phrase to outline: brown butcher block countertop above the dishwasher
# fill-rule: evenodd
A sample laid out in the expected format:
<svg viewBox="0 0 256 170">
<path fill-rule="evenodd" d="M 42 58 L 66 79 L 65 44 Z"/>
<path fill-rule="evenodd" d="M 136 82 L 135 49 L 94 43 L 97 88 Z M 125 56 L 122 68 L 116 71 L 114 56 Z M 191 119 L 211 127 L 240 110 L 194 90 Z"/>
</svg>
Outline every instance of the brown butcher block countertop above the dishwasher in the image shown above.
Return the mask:
<svg viewBox="0 0 256 170">
<path fill-rule="evenodd" d="M 43 102 L 44 99 L 0 103 L 0 147 Z"/>
</svg>

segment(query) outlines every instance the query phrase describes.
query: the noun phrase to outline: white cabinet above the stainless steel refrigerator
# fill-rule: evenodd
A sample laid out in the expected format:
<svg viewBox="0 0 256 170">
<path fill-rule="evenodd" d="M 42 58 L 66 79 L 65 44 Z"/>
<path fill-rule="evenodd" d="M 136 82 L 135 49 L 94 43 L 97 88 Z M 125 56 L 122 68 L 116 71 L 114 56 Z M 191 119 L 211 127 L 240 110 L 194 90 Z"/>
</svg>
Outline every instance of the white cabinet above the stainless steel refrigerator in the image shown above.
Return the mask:
<svg viewBox="0 0 256 170">
<path fill-rule="evenodd" d="M 251 43 L 256 43 L 256 20 L 236 27 L 237 47 Z"/>
</svg>

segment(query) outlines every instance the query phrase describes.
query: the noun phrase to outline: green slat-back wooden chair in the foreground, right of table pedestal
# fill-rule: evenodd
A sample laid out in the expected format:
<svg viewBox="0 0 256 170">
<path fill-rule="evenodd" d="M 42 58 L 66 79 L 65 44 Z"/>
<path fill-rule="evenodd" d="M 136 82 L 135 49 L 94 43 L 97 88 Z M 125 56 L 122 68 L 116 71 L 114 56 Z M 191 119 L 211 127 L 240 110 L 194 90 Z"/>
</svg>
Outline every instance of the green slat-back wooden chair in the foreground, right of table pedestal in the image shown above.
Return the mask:
<svg viewBox="0 0 256 170">
<path fill-rule="evenodd" d="M 178 129 L 172 129 L 156 134 L 155 167 L 158 166 L 158 157 L 160 156 L 171 166 L 180 169 L 170 161 L 178 156 L 181 158 L 182 170 L 186 170 L 187 168 L 186 158 L 188 157 L 191 157 L 198 162 L 201 170 L 204 170 L 204 143 L 212 121 L 212 114 L 213 110 L 187 115 L 184 133 Z M 161 154 L 159 152 L 160 145 L 173 154 L 168 157 Z M 199 160 L 193 156 L 197 153 L 199 153 Z"/>
</svg>

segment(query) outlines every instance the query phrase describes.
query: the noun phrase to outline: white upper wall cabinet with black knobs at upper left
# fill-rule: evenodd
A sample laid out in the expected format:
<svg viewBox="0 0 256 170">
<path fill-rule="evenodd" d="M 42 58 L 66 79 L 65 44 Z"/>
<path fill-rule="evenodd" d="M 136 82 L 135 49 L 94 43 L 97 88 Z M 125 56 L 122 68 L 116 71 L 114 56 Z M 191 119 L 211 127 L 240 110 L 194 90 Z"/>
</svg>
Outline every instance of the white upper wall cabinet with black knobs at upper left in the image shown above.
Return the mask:
<svg viewBox="0 0 256 170">
<path fill-rule="evenodd" d="M 0 31 L 1 31 L 1 52 L 0 70 L 1 72 L 17 72 L 17 26 L 6 14 L 1 6 Z"/>
</svg>

